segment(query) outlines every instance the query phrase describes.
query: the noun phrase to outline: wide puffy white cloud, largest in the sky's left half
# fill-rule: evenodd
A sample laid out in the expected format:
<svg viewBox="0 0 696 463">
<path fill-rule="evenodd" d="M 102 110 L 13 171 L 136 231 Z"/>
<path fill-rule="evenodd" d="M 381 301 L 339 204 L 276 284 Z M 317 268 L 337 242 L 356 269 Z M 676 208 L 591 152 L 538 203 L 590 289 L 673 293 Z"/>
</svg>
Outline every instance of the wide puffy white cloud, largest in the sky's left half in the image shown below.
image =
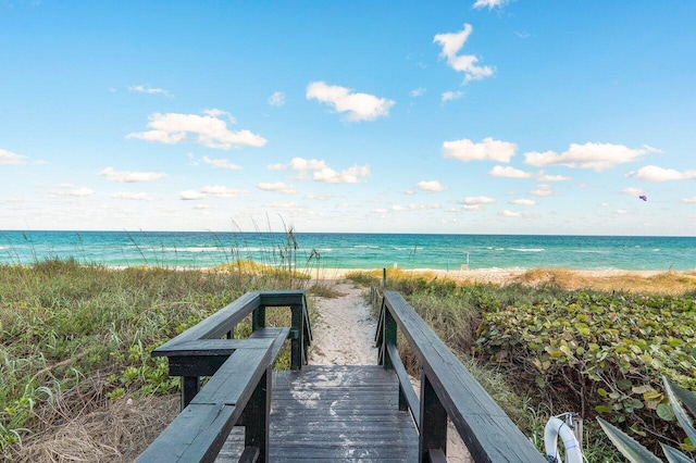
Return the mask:
<svg viewBox="0 0 696 463">
<path fill-rule="evenodd" d="M 241 146 L 262 147 L 266 143 L 265 138 L 249 130 L 229 130 L 225 121 L 220 118 L 228 114 L 224 111 L 213 109 L 203 114 L 154 113 L 148 122 L 151 130 L 132 133 L 126 138 L 174 145 L 186 141 L 190 134 L 197 143 L 224 150 Z"/>
</svg>

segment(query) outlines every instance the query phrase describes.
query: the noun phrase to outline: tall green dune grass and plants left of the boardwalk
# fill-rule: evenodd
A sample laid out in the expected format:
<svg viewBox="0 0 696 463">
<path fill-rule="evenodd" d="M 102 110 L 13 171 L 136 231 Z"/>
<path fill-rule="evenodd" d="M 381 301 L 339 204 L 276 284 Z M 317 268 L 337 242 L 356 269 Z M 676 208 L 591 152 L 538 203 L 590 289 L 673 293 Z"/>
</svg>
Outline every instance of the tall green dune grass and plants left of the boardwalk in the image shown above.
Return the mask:
<svg viewBox="0 0 696 463">
<path fill-rule="evenodd" d="M 313 289 L 293 268 L 236 268 L 0 265 L 0 455 L 16 455 L 22 440 L 47 425 L 47 411 L 60 409 L 62 418 L 86 412 L 89 395 L 103 403 L 174 391 L 178 378 L 169 377 L 166 359 L 150 356 L 152 349 L 243 293 Z M 269 311 L 268 324 L 289 325 L 289 312 Z M 236 336 L 249 331 L 243 323 Z"/>
</svg>

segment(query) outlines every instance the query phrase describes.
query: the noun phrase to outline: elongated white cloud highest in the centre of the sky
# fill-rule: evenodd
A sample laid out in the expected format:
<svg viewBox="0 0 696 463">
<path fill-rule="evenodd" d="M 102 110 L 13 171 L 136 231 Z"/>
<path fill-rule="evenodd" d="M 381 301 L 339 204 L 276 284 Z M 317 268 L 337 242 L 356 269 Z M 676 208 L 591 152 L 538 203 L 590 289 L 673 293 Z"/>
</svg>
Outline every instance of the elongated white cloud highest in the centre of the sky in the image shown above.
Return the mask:
<svg viewBox="0 0 696 463">
<path fill-rule="evenodd" d="M 386 116 L 395 103 L 386 98 L 355 93 L 349 88 L 323 82 L 313 82 L 307 86 L 307 99 L 327 103 L 336 112 L 347 113 L 348 121 L 373 121 Z"/>
</svg>

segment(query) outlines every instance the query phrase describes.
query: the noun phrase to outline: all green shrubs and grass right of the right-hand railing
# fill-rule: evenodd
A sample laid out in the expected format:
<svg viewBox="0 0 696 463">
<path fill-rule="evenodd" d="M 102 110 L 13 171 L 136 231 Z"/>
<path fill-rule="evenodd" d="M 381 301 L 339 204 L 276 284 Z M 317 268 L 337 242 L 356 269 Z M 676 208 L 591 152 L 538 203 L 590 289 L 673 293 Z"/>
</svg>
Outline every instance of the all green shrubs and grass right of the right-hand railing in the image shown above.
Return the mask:
<svg viewBox="0 0 696 463">
<path fill-rule="evenodd" d="M 381 277 L 352 276 L 375 283 Z M 657 291 L 644 285 L 643 293 L 587 289 L 592 281 L 569 290 L 552 275 L 542 284 L 534 275 L 521 279 L 534 285 L 456 284 L 390 273 L 387 286 L 409 300 L 468 367 L 476 365 L 472 373 L 539 450 L 544 424 L 566 411 L 585 421 L 589 461 L 621 461 L 595 416 L 648 448 L 662 440 L 694 450 L 660 383 L 666 375 L 696 389 L 693 279 L 691 292 L 681 296 L 655 293 L 671 292 L 663 290 L 673 288 L 669 277 L 655 279 Z M 403 355 L 408 359 L 408 351 Z M 505 380 L 490 384 L 492 375 Z"/>
</svg>

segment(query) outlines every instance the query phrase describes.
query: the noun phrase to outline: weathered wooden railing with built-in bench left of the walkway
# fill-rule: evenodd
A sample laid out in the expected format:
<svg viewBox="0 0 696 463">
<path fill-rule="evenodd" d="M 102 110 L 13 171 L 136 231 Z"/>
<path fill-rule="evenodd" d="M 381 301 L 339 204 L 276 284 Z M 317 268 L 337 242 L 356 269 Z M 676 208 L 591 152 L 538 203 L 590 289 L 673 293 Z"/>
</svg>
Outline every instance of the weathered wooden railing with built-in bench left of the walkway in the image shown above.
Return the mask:
<svg viewBox="0 0 696 463">
<path fill-rule="evenodd" d="M 270 306 L 289 308 L 291 326 L 266 328 Z M 251 336 L 233 339 L 235 326 L 249 314 Z M 268 462 L 271 367 L 287 338 L 290 367 L 300 370 L 312 339 L 303 291 L 248 292 L 157 348 L 152 355 L 167 356 L 170 375 L 182 377 L 182 413 L 138 461 L 213 461 L 232 428 L 244 425 L 239 461 Z M 201 376 L 211 376 L 202 389 Z"/>
</svg>

